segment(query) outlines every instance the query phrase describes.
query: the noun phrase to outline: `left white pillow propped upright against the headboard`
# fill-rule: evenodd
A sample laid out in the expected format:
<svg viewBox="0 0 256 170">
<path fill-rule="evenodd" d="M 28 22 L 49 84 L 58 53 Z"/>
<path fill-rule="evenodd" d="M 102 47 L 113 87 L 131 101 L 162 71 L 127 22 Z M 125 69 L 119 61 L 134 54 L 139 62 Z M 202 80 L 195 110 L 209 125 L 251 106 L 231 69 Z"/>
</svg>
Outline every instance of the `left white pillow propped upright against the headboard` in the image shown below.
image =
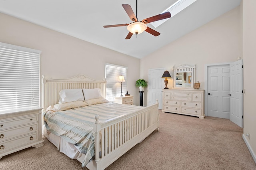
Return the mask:
<svg viewBox="0 0 256 170">
<path fill-rule="evenodd" d="M 59 103 L 67 103 L 72 101 L 84 101 L 82 89 L 65 89 L 61 90 Z"/>
</svg>

